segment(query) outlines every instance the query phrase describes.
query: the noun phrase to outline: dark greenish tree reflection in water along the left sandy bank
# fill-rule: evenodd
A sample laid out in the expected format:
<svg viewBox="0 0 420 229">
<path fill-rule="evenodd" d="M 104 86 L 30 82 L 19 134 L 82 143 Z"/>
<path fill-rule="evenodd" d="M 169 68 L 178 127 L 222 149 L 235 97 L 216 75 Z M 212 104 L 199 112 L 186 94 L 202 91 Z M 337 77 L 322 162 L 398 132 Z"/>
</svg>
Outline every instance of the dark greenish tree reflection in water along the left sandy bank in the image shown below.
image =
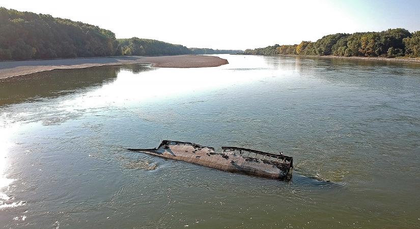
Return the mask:
<svg viewBox="0 0 420 229">
<path fill-rule="evenodd" d="M 150 70 L 147 65 L 101 66 L 57 69 L 0 80 L 0 106 L 48 97 L 59 97 L 76 90 L 109 83 L 120 69 L 133 73 Z"/>
</svg>

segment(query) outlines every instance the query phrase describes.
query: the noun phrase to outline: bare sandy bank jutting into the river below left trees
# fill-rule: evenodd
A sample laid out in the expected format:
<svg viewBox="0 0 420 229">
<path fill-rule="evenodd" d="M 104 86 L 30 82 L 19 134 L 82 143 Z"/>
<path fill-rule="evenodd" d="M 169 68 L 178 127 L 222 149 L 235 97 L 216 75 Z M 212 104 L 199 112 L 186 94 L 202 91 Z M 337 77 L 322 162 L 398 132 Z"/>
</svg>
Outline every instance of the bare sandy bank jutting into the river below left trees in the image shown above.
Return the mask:
<svg viewBox="0 0 420 229">
<path fill-rule="evenodd" d="M 201 68 L 229 64 L 209 55 L 118 56 L 109 58 L 75 58 L 40 61 L 0 62 L 0 79 L 53 69 L 89 68 L 103 65 L 150 63 L 158 68 Z"/>
</svg>

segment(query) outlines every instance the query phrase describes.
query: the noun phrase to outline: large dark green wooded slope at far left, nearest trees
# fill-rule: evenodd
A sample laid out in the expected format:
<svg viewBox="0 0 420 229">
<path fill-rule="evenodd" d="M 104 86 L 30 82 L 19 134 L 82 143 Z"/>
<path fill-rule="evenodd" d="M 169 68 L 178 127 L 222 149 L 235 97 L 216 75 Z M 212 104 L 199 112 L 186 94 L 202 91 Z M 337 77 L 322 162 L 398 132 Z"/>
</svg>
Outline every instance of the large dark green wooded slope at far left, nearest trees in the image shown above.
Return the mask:
<svg viewBox="0 0 420 229">
<path fill-rule="evenodd" d="M 98 26 L 0 8 L 0 60 L 114 55 L 117 45 Z"/>
</svg>

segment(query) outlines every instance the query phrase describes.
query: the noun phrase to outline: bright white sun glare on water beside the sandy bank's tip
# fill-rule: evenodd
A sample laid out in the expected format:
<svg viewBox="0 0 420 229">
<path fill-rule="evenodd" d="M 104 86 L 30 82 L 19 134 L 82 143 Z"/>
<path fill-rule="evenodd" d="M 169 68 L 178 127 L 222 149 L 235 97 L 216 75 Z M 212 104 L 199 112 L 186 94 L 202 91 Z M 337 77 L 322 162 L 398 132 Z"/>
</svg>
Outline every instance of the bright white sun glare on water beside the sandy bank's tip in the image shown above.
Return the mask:
<svg viewBox="0 0 420 229">
<path fill-rule="evenodd" d="M 235 63 L 232 64 L 235 66 Z M 230 66 L 230 67 L 232 67 Z M 132 66 L 134 67 L 134 66 Z M 118 78 L 97 90 L 87 92 L 77 98 L 64 100 L 59 104 L 65 110 L 87 109 L 113 106 L 129 106 L 139 102 L 191 96 L 241 85 L 267 78 L 266 74 L 255 75 L 251 71 L 234 71 L 229 77 L 223 74 L 223 68 L 155 69 L 147 75 L 133 75 L 138 70 L 122 68 Z M 229 68 L 231 70 L 231 68 Z M 248 69 L 249 70 L 249 69 Z"/>
</svg>

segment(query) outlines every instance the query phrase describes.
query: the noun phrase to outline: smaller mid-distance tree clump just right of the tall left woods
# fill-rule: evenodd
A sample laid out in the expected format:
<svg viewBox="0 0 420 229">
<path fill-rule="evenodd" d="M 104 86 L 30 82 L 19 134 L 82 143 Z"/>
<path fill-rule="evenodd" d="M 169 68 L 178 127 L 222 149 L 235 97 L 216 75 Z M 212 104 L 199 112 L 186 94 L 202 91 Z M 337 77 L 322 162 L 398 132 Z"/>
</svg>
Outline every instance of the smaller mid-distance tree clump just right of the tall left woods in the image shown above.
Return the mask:
<svg viewBox="0 0 420 229">
<path fill-rule="evenodd" d="M 192 53 L 185 46 L 151 39 L 133 37 L 129 39 L 118 39 L 118 43 L 118 51 L 123 55 L 175 55 Z"/>
</svg>

